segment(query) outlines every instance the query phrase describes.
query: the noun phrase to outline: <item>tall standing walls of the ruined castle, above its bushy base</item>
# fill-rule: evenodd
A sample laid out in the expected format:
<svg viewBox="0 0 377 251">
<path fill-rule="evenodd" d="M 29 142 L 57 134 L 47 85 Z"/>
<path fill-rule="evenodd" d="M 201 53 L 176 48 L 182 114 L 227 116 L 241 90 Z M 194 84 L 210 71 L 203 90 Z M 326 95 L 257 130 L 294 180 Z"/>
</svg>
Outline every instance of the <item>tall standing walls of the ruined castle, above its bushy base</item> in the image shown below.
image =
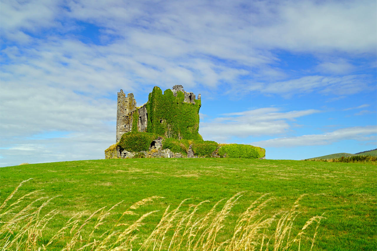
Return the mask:
<svg viewBox="0 0 377 251">
<path fill-rule="evenodd" d="M 172 96 L 175 98 L 172 97 L 169 99 L 169 92 L 170 95 L 172 93 Z M 183 97 L 178 95 L 179 92 L 183 93 Z M 141 107 L 136 107 L 136 101 L 133 97 L 133 93 L 128 93 L 126 97 L 123 90 L 118 92 L 116 142 L 120 141 L 120 138 L 124 133 L 132 132 L 132 130 L 160 134 L 162 131 L 164 131 L 162 135 L 179 139 L 190 136 L 187 136 L 188 133 L 184 131 L 189 131 L 189 134 L 198 134 L 200 107 L 199 100 L 201 99 L 201 95 L 199 94 L 198 99 L 196 99 L 193 92 L 185 92 L 183 86 L 181 85 L 175 85 L 173 86 L 172 90 L 168 89 L 164 92 L 164 95 L 161 95 L 161 89 L 155 86 L 153 88 L 153 92 L 149 94 L 148 102 Z M 166 98 L 164 98 L 165 95 L 167 95 Z M 161 101 L 156 97 L 163 100 Z M 182 99 L 180 99 L 180 97 L 182 97 Z M 177 102 L 178 100 L 181 102 Z M 197 106 L 188 106 L 188 104 L 195 105 L 196 103 L 198 103 Z M 188 114 L 191 117 L 184 116 L 185 114 Z M 172 119 L 173 116 L 180 121 L 174 121 Z M 186 124 L 185 129 L 182 129 L 182 123 Z"/>
</svg>

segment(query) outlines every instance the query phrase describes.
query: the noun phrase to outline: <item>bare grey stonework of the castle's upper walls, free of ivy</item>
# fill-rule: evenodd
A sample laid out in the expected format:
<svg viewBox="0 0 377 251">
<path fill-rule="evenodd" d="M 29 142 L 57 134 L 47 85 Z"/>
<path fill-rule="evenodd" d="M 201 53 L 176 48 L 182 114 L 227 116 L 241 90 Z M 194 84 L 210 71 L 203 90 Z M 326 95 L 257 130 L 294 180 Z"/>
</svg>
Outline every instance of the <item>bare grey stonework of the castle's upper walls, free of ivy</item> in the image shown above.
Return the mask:
<svg viewBox="0 0 377 251">
<path fill-rule="evenodd" d="M 158 88 L 158 87 L 157 87 Z M 155 88 L 153 91 L 155 91 Z M 158 88 L 159 89 L 159 88 Z M 161 91 L 161 90 L 160 90 Z M 195 94 L 192 92 L 185 92 L 183 86 L 175 85 L 171 90 L 173 92 L 173 96 L 177 97 L 178 92 L 182 92 L 184 94 L 184 99 L 182 103 L 186 104 L 195 104 Z M 170 94 L 171 95 L 171 94 Z M 151 94 L 150 94 L 151 97 Z M 201 99 L 201 95 L 198 95 L 197 101 Z M 118 92 L 118 106 L 116 110 L 116 142 L 120 141 L 121 136 L 124 133 L 132 132 L 132 128 L 137 128 L 138 132 L 147 132 L 148 122 L 152 123 L 152 117 L 148 117 L 148 109 L 147 104 L 152 101 L 148 100 L 146 104 L 141 107 L 136 107 L 136 101 L 133 97 L 133 93 L 126 94 L 123 90 Z M 178 104 L 178 103 L 177 103 Z M 200 107 L 200 102 L 199 102 Z M 152 110 L 155 108 L 152 108 Z M 133 125 L 135 123 L 135 115 L 134 113 L 137 112 L 138 119 L 137 119 L 137 127 Z M 160 123 L 164 120 L 164 118 L 158 118 Z M 199 125 L 198 125 L 199 127 Z M 197 129 L 196 129 L 197 131 Z"/>
</svg>

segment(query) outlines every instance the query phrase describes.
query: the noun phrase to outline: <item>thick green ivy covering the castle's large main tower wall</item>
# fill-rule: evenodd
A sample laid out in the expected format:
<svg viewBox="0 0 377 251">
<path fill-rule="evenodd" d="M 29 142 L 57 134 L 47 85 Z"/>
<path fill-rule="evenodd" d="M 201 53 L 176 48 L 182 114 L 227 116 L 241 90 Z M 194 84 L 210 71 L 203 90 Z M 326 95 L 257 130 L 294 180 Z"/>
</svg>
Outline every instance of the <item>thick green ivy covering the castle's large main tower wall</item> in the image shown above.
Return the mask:
<svg viewBox="0 0 377 251">
<path fill-rule="evenodd" d="M 202 141 L 199 130 L 199 109 L 201 101 L 195 104 L 184 103 L 184 93 L 173 95 L 170 89 L 162 90 L 155 86 L 149 93 L 146 104 L 148 113 L 147 132 L 167 138 L 192 139 Z"/>
</svg>

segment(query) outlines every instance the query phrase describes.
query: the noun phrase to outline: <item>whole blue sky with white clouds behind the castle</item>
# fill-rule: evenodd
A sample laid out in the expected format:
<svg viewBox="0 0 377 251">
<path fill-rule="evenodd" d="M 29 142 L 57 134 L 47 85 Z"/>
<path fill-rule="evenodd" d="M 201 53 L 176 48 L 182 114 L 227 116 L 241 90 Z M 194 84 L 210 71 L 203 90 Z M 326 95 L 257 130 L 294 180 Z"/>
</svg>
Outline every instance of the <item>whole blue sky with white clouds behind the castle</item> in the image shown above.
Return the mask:
<svg viewBox="0 0 377 251">
<path fill-rule="evenodd" d="M 305 159 L 376 148 L 371 1 L 1 1 L 1 166 L 104 158 L 116 93 L 201 93 L 199 133 Z"/>
</svg>

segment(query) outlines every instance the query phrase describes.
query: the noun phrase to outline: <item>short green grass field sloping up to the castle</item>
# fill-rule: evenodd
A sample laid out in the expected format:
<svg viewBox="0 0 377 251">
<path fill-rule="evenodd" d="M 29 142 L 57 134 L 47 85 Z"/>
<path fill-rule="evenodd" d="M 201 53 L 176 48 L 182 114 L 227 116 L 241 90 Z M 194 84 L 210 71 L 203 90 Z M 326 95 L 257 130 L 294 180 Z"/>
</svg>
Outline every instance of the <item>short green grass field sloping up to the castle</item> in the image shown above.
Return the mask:
<svg viewBox="0 0 377 251">
<path fill-rule="evenodd" d="M 262 194 L 270 193 L 268 197 L 274 198 L 263 211 L 269 216 L 289 209 L 300 195 L 307 194 L 300 201 L 302 213 L 295 220 L 295 228 L 301 228 L 311 216 L 325 213 L 326 217 L 318 228 L 313 250 L 377 248 L 374 164 L 229 158 L 106 159 L 19 165 L 1 168 L 0 172 L 1 203 L 21 181 L 29 178 L 32 180 L 17 192 L 20 195 L 40 189 L 43 191 L 38 196 L 61 195 L 46 207 L 46 211 L 57 208 L 58 214 L 51 230 L 40 240 L 43 243 L 75 213 L 84 211 L 89 216 L 121 200 L 124 202 L 114 208 L 99 228 L 100 233 L 111 228 L 122 212 L 138 200 L 165 197 L 137 210 L 139 214 L 160 210 L 144 220 L 146 225 L 139 228 L 142 238 L 150 234 L 168 205 L 176 208 L 187 198 L 190 200 L 184 207 L 210 200 L 203 204 L 200 214 L 223 198 L 247 191 L 227 218 L 220 240 L 227 238 L 238 215 Z M 130 215 L 127 219 L 133 222 L 139 216 Z M 314 231 L 308 230 L 308 236 Z M 60 250 L 63 243 L 49 247 Z M 310 245 L 302 247 L 309 249 Z"/>
</svg>

